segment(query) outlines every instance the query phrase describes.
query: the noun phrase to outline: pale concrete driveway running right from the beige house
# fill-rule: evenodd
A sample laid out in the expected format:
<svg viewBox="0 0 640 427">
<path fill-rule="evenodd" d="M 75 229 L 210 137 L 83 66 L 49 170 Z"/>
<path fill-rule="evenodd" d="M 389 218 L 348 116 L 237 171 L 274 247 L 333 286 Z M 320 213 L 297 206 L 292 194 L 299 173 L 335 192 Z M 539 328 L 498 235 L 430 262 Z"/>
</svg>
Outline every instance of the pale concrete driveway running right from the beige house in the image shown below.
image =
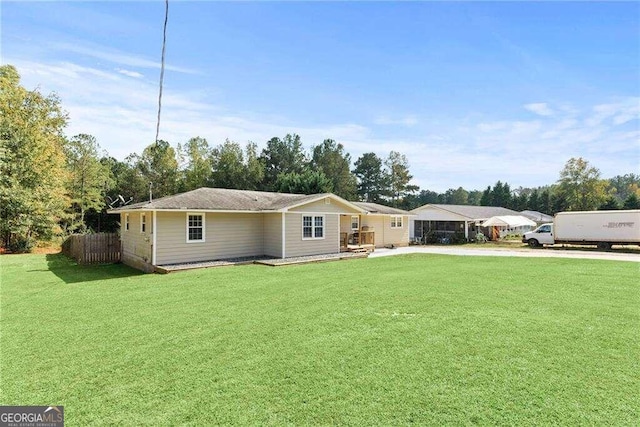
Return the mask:
<svg viewBox="0 0 640 427">
<path fill-rule="evenodd" d="M 605 259 L 614 261 L 640 262 L 639 254 L 620 252 L 591 252 L 580 250 L 562 250 L 551 248 L 473 248 L 470 246 L 408 246 L 397 249 L 376 249 L 369 254 L 370 258 L 402 254 L 440 254 L 458 256 L 505 256 L 524 258 L 578 258 L 578 259 Z"/>
</svg>

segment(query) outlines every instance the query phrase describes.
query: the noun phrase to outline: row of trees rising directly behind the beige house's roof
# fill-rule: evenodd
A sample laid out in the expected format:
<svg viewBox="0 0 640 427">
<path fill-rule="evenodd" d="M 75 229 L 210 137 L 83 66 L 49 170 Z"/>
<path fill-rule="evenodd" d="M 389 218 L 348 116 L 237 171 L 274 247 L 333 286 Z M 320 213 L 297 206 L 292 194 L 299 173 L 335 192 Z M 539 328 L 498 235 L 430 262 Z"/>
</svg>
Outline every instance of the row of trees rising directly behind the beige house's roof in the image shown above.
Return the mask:
<svg viewBox="0 0 640 427">
<path fill-rule="evenodd" d="M 85 141 L 92 137 L 82 136 Z M 94 150 L 95 151 L 95 150 Z M 163 197 L 200 187 L 276 191 L 287 193 L 333 192 L 345 199 L 391 202 L 415 191 L 409 182 L 406 156 L 392 151 L 384 160 L 366 153 L 351 169 L 351 155 L 342 144 L 325 139 L 304 149 L 299 135 L 274 137 L 258 151 L 226 140 L 210 146 L 201 137 L 191 138 L 174 149 L 167 141 L 147 146 L 123 162 L 103 157 L 115 183 L 113 190 L 134 201 Z"/>
</svg>

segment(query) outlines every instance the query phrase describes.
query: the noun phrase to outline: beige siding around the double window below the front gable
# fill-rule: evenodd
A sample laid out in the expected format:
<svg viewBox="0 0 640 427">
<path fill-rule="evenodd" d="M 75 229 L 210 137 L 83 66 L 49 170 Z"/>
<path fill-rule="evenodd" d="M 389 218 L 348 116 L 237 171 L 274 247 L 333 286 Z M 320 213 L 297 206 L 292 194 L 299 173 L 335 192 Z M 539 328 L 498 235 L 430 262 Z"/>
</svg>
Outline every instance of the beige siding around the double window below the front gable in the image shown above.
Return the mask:
<svg viewBox="0 0 640 427">
<path fill-rule="evenodd" d="M 331 254 L 340 252 L 340 215 L 324 214 L 324 239 L 302 239 L 302 216 L 288 213 L 285 217 L 286 257 Z"/>
</svg>

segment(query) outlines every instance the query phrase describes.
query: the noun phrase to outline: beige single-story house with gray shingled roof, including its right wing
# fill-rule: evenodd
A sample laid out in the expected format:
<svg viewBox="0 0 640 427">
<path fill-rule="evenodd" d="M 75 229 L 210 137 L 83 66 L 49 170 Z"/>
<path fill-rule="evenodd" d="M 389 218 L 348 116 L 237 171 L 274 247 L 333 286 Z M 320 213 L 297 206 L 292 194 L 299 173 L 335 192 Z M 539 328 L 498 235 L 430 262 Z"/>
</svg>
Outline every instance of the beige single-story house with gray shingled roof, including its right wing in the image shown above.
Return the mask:
<svg viewBox="0 0 640 427">
<path fill-rule="evenodd" d="M 369 233 L 374 245 L 408 244 L 409 212 L 370 212 L 331 193 L 199 188 L 109 213 L 120 215 L 122 262 L 144 271 L 226 258 L 337 253 L 349 249 L 341 228 L 356 217 L 375 228 Z"/>
</svg>

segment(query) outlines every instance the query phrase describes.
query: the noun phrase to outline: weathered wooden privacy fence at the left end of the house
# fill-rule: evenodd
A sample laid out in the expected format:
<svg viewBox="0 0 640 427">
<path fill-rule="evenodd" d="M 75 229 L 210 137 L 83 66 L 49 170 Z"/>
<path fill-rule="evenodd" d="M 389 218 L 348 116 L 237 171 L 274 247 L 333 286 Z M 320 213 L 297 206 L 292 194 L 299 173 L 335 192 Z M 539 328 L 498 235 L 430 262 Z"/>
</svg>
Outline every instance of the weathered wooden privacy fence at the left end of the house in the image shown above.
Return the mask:
<svg viewBox="0 0 640 427">
<path fill-rule="evenodd" d="M 74 234 L 62 244 L 62 253 L 79 264 L 103 264 L 120 261 L 118 233 Z"/>
</svg>

